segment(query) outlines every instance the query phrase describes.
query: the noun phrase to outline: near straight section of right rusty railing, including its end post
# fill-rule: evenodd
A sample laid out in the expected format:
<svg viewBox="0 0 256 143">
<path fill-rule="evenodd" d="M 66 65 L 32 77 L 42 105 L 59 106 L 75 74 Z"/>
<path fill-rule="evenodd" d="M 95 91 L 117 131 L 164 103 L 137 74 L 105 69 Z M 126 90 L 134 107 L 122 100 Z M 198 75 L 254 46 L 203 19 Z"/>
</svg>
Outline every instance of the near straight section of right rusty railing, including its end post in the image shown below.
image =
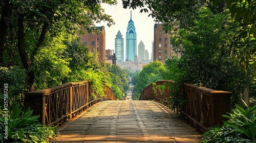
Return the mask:
<svg viewBox="0 0 256 143">
<path fill-rule="evenodd" d="M 223 125 L 227 120 L 223 114 L 230 112 L 232 92 L 218 91 L 193 84 L 184 84 L 183 98 L 188 102 L 181 107 L 187 119 L 200 131 L 215 125 Z"/>
</svg>

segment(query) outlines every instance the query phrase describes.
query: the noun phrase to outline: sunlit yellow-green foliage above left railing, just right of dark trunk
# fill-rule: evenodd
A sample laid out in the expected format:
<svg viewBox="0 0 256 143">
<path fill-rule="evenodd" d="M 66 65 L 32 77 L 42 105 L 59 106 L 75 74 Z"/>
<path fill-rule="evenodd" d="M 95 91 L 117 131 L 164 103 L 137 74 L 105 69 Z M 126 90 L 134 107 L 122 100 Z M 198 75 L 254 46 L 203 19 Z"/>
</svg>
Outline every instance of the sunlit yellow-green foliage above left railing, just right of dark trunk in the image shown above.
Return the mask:
<svg viewBox="0 0 256 143">
<path fill-rule="evenodd" d="M 63 79 L 69 76 L 71 69 L 69 62 L 71 58 L 63 57 L 67 49 L 66 40 L 72 37 L 59 35 L 40 49 L 35 56 L 35 62 L 31 70 L 36 73 L 35 86 L 36 90 L 45 89 L 61 85 Z M 47 48 L 46 48 L 47 47 Z"/>
</svg>

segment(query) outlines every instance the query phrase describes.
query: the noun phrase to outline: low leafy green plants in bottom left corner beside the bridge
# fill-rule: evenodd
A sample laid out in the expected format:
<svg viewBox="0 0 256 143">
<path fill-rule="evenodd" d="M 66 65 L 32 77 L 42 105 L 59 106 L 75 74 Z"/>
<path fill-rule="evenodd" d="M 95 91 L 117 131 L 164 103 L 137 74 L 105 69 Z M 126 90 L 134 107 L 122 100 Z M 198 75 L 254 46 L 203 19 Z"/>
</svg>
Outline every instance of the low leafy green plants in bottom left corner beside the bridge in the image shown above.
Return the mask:
<svg viewBox="0 0 256 143">
<path fill-rule="evenodd" d="M 39 115 L 32 116 L 32 112 L 33 110 L 30 110 L 30 108 L 22 112 L 19 104 L 16 104 L 13 111 L 1 110 L 0 141 L 46 142 L 49 138 L 58 134 L 56 127 L 47 127 L 35 123 Z"/>
</svg>

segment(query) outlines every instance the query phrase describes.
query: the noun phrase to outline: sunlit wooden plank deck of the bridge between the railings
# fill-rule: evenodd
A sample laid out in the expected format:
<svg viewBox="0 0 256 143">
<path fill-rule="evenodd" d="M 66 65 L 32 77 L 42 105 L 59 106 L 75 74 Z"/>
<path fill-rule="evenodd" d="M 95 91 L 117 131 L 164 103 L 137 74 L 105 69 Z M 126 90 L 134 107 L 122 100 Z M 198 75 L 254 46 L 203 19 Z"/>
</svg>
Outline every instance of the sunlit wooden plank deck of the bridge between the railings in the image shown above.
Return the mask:
<svg viewBox="0 0 256 143">
<path fill-rule="evenodd" d="M 200 142 L 201 135 L 154 101 L 104 101 L 60 130 L 52 142 Z"/>
</svg>

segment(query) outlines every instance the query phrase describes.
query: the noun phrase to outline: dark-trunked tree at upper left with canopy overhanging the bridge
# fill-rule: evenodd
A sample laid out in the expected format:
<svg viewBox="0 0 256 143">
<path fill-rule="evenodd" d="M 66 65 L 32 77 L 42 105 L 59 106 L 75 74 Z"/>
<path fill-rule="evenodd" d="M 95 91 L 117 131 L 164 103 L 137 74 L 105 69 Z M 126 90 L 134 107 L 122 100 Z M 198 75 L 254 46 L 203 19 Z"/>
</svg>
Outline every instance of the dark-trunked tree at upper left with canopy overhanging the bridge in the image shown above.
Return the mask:
<svg viewBox="0 0 256 143">
<path fill-rule="evenodd" d="M 27 70 L 29 90 L 33 90 L 35 71 L 31 67 L 36 64 L 35 57 L 46 40 L 46 36 L 54 37 L 60 31 L 76 32 L 79 28 L 94 25 L 94 21 L 113 19 L 103 13 L 100 4 L 115 4 L 115 0 L 107 1 L 10 1 L 0 5 L 0 64 L 5 66 L 4 55 L 6 45 L 16 46 L 20 61 Z M 84 18 L 86 17 L 86 18 Z M 14 36 L 12 36 L 12 34 Z M 33 36 L 32 36 L 33 35 Z M 28 37 L 30 37 L 28 39 Z M 31 37 L 33 37 L 31 39 Z M 12 39 L 14 38 L 14 40 Z M 10 44 L 8 41 L 12 41 Z M 29 41 L 29 45 L 28 45 Z"/>
</svg>

